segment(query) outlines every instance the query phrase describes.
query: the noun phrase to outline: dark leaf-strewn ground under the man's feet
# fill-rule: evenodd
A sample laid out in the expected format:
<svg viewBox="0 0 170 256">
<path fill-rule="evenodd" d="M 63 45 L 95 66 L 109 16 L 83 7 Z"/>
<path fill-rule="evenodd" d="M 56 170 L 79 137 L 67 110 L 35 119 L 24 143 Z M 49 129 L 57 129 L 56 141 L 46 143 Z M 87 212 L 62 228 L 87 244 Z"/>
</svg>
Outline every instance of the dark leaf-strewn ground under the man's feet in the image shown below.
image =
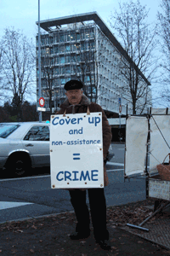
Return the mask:
<svg viewBox="0 0 170 256">
<path fill-rule="evenodd" d="M 64 212 L 43 218 L 0 224 L 0 256 L 4 255 L 54 255 L 54 256 L 102 256 L 102 255 L 170 255 L 170 250 L 147 241 L 143 237 L 122 230 L 126 224 L 139 224 L 151 210 L 153 201 L 141 201 L 119 207 L 107 208 L 107 226 L 110 232 L 111 251 L 102 250 L 91 236 L 86 240 L 71 241 L 69 234 L 77 223 L 74 212 Z M 141 212 L 141 214 L 139 214 Z M 157 223 L 157 217 L 150 222 Z M 151 224 L 153 226 L 153 224 Z M 159 238 L 159 236 L 158 236 Z"/>
</svg>

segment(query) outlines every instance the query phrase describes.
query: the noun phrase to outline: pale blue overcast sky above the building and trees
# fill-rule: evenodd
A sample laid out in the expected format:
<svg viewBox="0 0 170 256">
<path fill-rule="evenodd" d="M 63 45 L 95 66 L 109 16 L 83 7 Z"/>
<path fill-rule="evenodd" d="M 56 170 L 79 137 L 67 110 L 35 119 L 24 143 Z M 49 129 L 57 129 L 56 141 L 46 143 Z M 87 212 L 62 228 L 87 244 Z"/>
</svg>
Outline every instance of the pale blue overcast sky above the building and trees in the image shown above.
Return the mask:
<svg viewBox="0 0 170 256">
<path fill-rule="evenodd" d="M 140 0 L 142 5 L 150 9 L 149 22 L 156 21 L 160 2 L 161 0 Z M 117 8 L 117 0 L 40 0 L 40 20 L 97 11 L 111 29 L 111 11 Z M 34 39 L 37 20 L 38 0 L 0 0 L 0 37 L 6 27 L 14 26 L 15 30 L 20 29 L 27 37 Z"/>
</svg>

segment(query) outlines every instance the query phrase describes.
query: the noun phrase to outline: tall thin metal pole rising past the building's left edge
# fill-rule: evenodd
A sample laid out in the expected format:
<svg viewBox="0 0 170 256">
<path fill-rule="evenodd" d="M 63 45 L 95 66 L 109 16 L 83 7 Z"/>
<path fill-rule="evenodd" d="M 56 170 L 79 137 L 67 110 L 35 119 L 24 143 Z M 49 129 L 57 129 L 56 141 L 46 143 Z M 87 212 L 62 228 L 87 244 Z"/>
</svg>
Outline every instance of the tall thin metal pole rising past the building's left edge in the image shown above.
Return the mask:
<svg viewBox="0 0 170 256">
<path fill-rule="evenodd" d="M 42 84 L 41 84 L 41 47 L 40 47 L 40 0 L 38 0 L 38 95 L 42 96 Z M 42 111 L 39 111 L 39 122 L 42 122 Z"/>
</svg>

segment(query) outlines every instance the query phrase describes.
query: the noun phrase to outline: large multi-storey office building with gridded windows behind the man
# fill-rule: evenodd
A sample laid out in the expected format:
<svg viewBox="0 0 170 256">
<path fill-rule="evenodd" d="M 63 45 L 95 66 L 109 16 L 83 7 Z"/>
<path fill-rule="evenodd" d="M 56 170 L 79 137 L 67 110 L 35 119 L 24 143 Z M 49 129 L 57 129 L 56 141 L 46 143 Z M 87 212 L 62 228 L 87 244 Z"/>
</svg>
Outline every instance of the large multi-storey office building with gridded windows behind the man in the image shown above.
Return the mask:
<svg viewBox="0 0 170 256">
<path fill-rule="evenodd" d="M 125 90 L 129 82 L 122 73 L 124 63 L 132 65 L 132 61 L 96 12 L 44 20 L 40 26 L 44 31 L 41 34 L 42 96 L 48 111 L 54 113 L 65 100 L 65 82 L 80 79 L 85 84 L 85 95 L 91 102 L 97 102 L 108 116 L 118 116 L 120 111 L 126 114 L 126 108 L 128 113 L 133 113 L 132 96 Z M 134 63 L 133 67 L 150 98 L 145 111 L 151 102 L 150 83 Z M 143 106 L 144 101 L 145 97 L 141 97 L 138 104 Z"/>
</svg>

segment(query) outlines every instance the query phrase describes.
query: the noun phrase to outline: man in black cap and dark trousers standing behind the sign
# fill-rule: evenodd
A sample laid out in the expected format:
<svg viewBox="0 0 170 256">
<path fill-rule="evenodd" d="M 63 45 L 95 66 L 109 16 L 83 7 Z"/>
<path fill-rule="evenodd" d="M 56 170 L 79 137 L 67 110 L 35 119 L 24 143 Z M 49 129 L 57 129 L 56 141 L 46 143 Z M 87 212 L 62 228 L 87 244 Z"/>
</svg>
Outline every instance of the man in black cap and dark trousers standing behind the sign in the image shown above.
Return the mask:
<svg viewBox="0 0 170 256">
<path fill-rule="evenodd" d="M 83 84 L 78 80 L 71 80 L 65 84 L 66 100 L 60 105 L 57 114 L 64 113 L 87 113 L 102 112 L 103 130 L 103 152 L 104 161 L 111 144 L 111 126 L 105 116 L 103 109 L 94 102 L 89 102 L 88 97 L 83 95 Z M 104 183 L 108 184 L 106 169 L 104 168 Z M 91 210 L 91 218 L 94 226 L 94 238 L 99 246 L 105 250 L 110 250 L 109 232 L 106 228 L 106 205 L 104 189 L 87 189 Z M 90 218 L 88 206 L 86 204 L 86 189 L 69 189 L 71 204 L 77 216 L 76 232 L 71 234 L 72 240 L 87 238 L 90 235 Z"/>
</svg>

